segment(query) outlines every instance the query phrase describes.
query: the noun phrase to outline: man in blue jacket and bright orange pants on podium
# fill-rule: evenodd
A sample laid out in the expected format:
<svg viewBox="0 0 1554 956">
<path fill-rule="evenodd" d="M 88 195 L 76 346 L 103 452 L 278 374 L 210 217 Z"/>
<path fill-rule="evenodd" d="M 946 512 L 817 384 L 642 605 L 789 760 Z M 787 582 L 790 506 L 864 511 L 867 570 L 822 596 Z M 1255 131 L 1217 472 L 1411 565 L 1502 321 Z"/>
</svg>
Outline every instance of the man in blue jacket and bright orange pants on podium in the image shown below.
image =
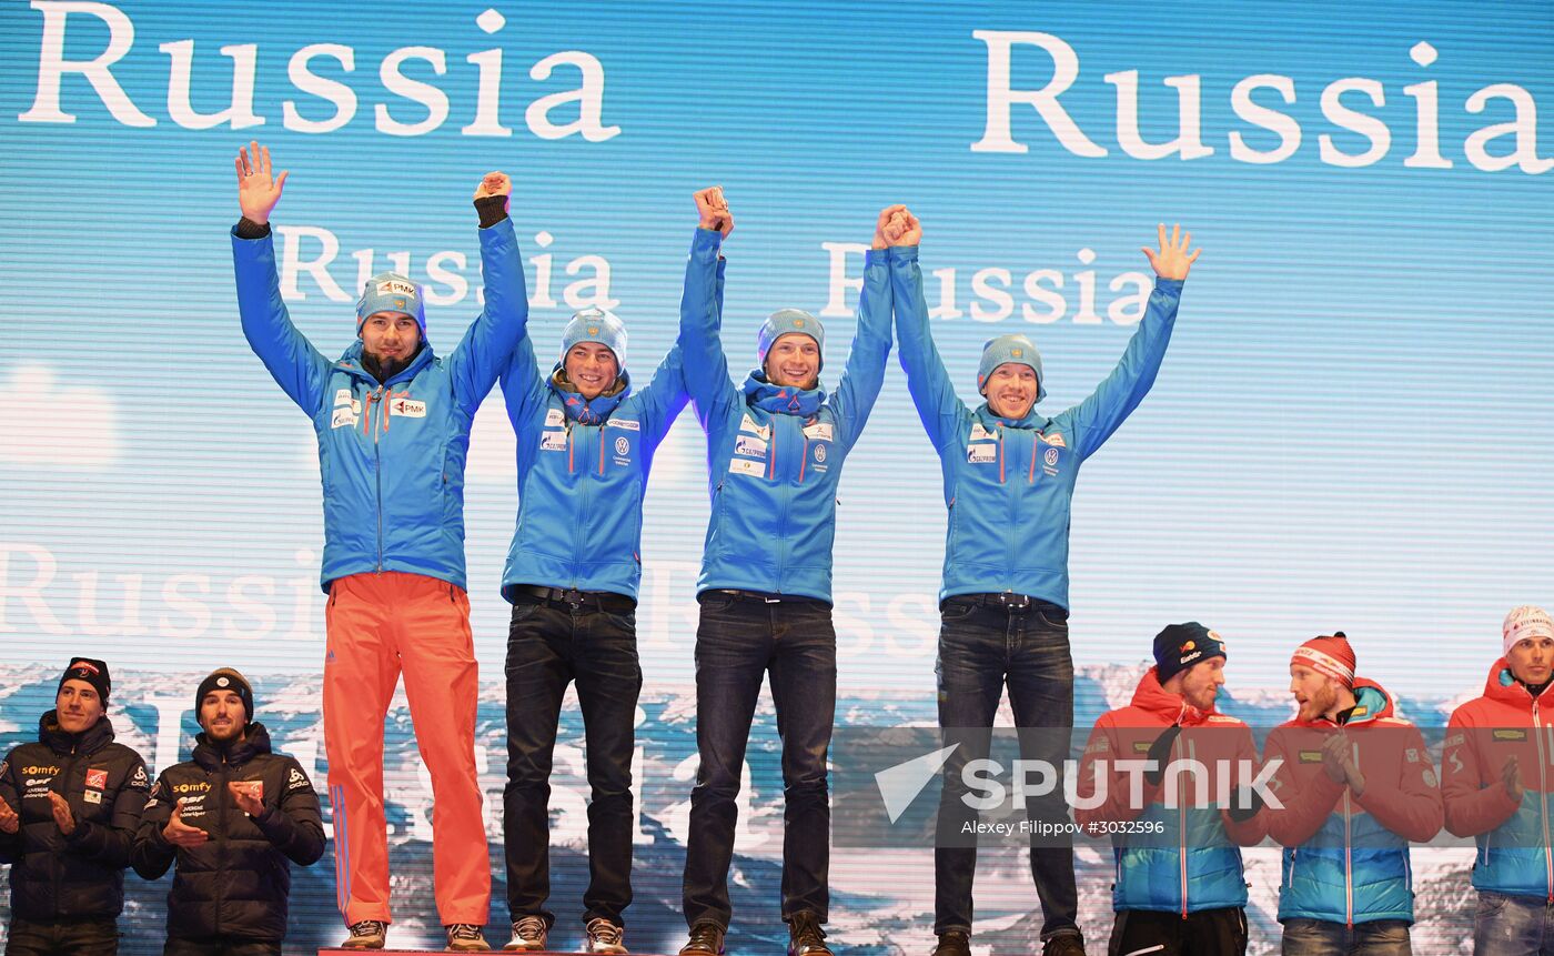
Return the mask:
<svg viewBox="0 0 1554 956">
<path fill-rule="evenodd" d="M 511 183 L 491 173 L 476 191 L 485 311 L 448 359 L 426 340 L 420 286 L 384 272 L 356 306 L 357 340 L 329 362 L 281 302 L 269 215 L 286 173 L 274 176 L 269 151 L 252 149 L 236 160 L 242 221 L 232 236 L 242 334 L 312 420 L 323 474 L 323 741 L 339 905 L 351 931 L 343 947 L 382 948 L 390 922 L 382 734 L 402 667 L 437 794 L 437 911 L 451 950 L 486 950 L 491 869 L 474 760 L 463 479 L 471 420 L 528 311 L 507 218 Z"/>
</svg>

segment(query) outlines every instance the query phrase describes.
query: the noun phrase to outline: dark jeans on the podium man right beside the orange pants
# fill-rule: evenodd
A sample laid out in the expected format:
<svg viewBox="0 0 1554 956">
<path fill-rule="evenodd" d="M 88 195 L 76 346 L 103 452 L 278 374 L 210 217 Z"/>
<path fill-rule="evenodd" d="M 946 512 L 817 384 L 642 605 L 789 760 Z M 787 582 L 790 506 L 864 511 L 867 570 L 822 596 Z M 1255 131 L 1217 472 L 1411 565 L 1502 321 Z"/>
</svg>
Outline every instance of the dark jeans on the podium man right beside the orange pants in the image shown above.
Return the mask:
<svg viewBox="0 0 1554 956">
<path fill-rule="evenodd" d="M 587 746 L 589 886 L 586 920 L 625 925 L 631 905 L 631 755 L 636 746 L 637 616 L 598 605 L 578 608 L 527 602 L 519 595 L 507 636 L 507 788 L 502 841 L 507 852 L 507 905 L 516 922 L 555 916 L 550 897 L 550 762 L 556 748 L 561 698 L 577 681 Z"/>
</svg>

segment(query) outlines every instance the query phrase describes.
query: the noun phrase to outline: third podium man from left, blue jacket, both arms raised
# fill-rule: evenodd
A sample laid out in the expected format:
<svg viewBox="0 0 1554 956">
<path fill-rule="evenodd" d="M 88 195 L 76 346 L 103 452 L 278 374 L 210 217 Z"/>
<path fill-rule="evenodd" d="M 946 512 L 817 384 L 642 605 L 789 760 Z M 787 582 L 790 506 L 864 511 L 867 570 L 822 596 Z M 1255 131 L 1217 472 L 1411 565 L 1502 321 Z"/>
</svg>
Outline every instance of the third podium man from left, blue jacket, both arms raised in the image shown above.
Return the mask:
<svg viewBox="0 0 1554 956">
<path fill-rule="evenodd" d="M 685 266 L 679 348 L 707 432 L 712 518 L 696 581 L 701 765 L 685 847 L 690 940 L 681 953 L 723 951 L 735 797 L 761 678 L 771 673 L 786 802 L 782 916 L 789 953 L 824 956 L 831 841 L 825 762 L 836 710 L 831 538 L 842 462 L 869 420 L 890 353 L 884 239 L 876 227 L 858 333 L 834 393 L 819 381 L 825 331 L 799 309 L 766 320 L 760 367 L 735 387 L 718 339 L 718 249 L 733 219 L 718 188 L 696 193 L 696 208 L 701 224 Z"/>
</svg>

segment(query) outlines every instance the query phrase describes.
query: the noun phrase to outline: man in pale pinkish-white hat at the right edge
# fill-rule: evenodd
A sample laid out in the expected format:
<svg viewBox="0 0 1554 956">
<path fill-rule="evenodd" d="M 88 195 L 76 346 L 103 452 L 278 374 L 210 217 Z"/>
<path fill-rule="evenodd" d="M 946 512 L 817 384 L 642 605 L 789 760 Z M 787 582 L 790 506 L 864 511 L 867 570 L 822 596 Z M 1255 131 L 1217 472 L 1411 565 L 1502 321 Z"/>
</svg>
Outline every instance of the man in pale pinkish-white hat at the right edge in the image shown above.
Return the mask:
<svg viewBox="0 0 1554 956">
<path fill-rule="evenodd" d="M 1512 608 L 1484 695 L 1453 710 L 1447 724 L 1441 797 L 1447 830 L 1478 841 L 1478 956 L 1554 953 L 1554 849 L 1545 822 L 1554 752 L 1542 715 L 1551 684 L 1554 620 L 1543 608 Z"/>
</svg>

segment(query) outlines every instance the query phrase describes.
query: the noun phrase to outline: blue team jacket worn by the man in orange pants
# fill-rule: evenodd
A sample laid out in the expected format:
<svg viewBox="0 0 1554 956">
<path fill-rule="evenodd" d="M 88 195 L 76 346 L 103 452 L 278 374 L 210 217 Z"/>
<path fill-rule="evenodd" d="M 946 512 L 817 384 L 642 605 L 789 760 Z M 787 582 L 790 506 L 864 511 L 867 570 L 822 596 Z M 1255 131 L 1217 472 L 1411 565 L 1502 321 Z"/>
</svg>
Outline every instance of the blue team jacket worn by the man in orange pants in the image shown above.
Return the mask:
<svg viewBox="0 0 1554 956">
<path fill-rule="evenodd" d="M 402 570 L 465 588 L 469 423 L 522 334 L 528 298 L 513 221 L 480 230 L 485 311 L 448 359 L 430 342 L 379 384 L 357 339 L 337 362 L 297 331 L 270 236 L 232 236 L 242 334 L 312 418 L 323 479 L 323 589 L 351 574 Z"/>
</svg>

